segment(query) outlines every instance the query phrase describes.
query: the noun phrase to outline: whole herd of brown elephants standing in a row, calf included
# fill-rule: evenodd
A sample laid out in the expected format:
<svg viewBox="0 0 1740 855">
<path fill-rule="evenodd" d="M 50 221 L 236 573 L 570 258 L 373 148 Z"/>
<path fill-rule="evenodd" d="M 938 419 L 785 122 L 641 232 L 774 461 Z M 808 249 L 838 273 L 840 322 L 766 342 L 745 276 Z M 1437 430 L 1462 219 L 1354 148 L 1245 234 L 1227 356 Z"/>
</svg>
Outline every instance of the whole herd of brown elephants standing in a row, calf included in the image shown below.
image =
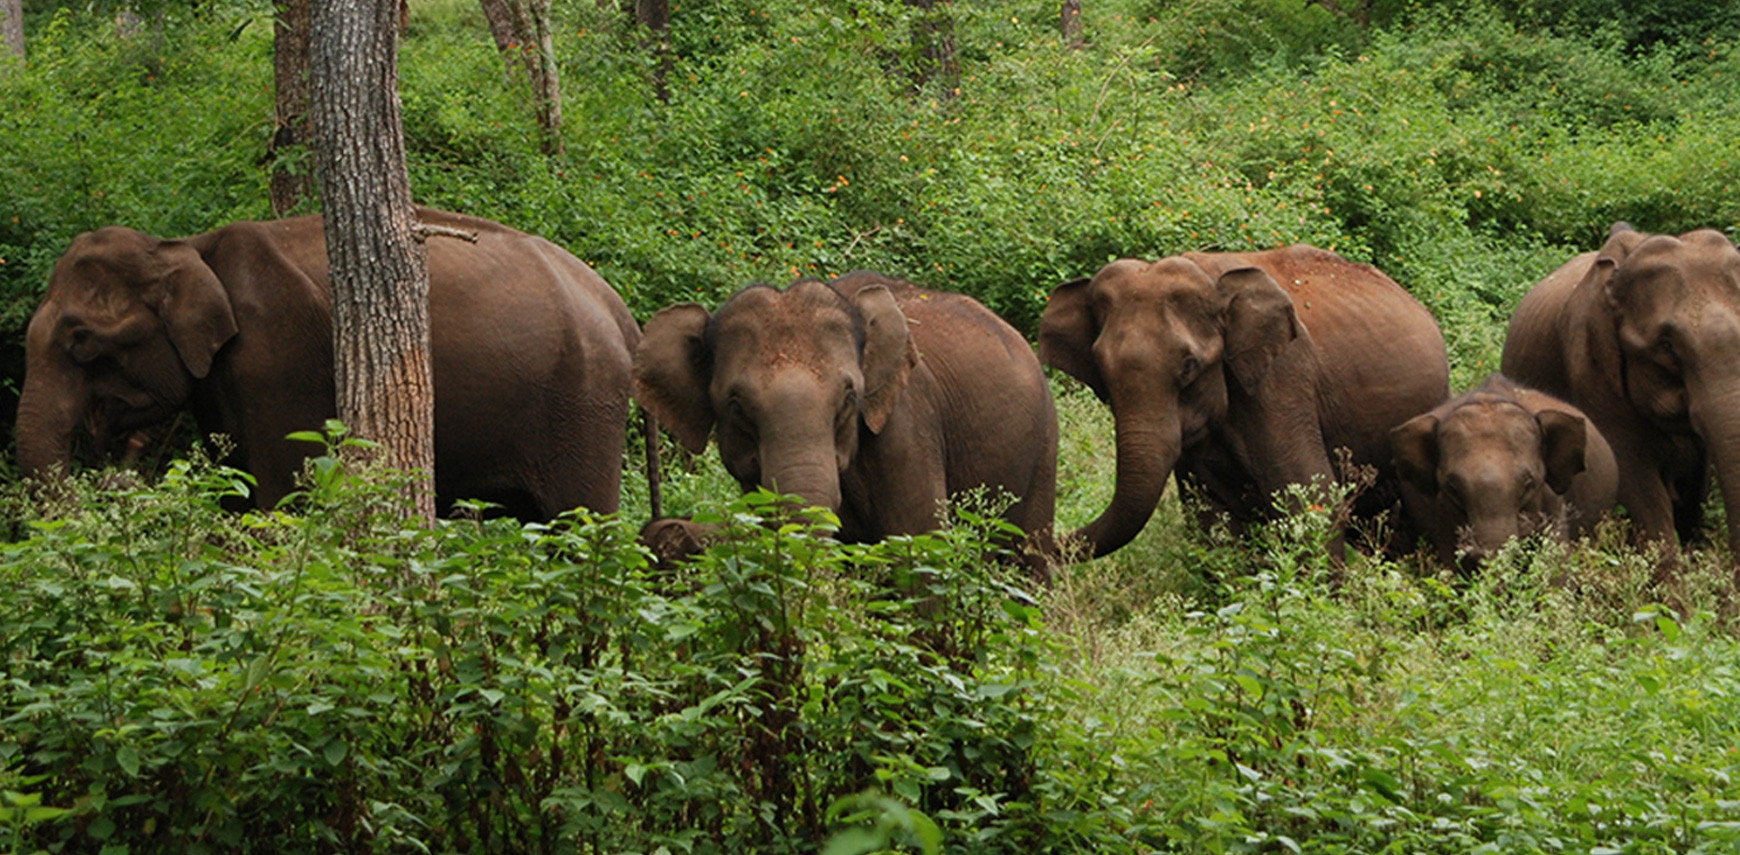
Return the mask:
<svg viewBox="0 0 1740 855">
<path fill-rule="evenodd" d="M 750 286 L 640 329 L 555 244 L 419 218 L 478 235 L 428 244 L 444 505 L 616 512 L 633 399 L 689 451 L 717 444 L 745 489 L 832 508 L 844 540 L 927 531 L 952 495 L 1006 493 L 1041 575 L 1129 543 L 1173 475 L 1242 524 L 1291 484 L 1328 502 L 1348 463 L 1376 474 L 1354 517 L 1399 508 L 1390 547 L 1427 540 L 1451 564 L 1542 528 L 1583 533 L 1615 505 L 1672 557 L 1700 531 L 1712 467 L 1740 542 L 1740 251 L 1712 230 L 1615 225 L 1522 300 L 1502 374 L 1451 397 L 1430 312 L 1308 246 L 1112 261 L 1053 293 L 1035 357 L 978 301 L 870 272 Z M 1110 505 L 1060 536 L 1041 362 L 1117 430 Z M 231 437 L 256 503 L 294 489 L 306 449 L 285 435 L 334 414 L 318 218 L 181 240 L 110 226 L 54 266 L 26 334 L 21 470 L 47 477 L 78 441 L 106 448 L 184 409 Z M 646 531 L 705 540 L 686 521 Z"/>
</svg>

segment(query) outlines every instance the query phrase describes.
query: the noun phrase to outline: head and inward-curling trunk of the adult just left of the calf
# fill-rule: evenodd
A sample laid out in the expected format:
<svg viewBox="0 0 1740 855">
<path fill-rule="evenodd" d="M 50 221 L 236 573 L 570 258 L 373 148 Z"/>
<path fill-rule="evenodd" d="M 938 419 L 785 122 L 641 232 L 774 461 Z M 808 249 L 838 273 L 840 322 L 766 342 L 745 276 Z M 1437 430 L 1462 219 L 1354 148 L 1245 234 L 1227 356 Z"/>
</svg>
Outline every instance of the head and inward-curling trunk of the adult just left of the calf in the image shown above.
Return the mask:
<svg viewBox="0 0 1740 855">
<path fill-rule="evenodd" d="M 1187 258 L 1114 261 L 1060 286 L 1039 326 L 1039 359 L 1112 406 L 1117 486 L 1079 531 L 1105 555 L 1141 531 L 1187 449 L 1227 414 L 1228 385 L 1255 390 L 1303 329 L 1262 268 L 1218 275 Z"/>
</svg>

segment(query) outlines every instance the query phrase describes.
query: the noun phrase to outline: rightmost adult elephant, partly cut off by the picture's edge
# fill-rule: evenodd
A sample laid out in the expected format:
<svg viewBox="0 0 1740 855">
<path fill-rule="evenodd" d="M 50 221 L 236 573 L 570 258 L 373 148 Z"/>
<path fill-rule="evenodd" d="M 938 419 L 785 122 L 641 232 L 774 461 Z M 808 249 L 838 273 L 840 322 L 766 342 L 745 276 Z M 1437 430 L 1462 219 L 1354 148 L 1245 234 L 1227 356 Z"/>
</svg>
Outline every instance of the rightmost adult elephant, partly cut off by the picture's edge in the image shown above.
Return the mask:
<svg viewBox="0 0 1740 855">
<path fill-rule="evenodd" d="M 1698 536 L 1714 463 L 1740 549 L 1740 252 L 1721 232 L 1615 223 L 1517 305 L 1503 373 L 1601 428 L 1646 542 Z"/>
</svg>

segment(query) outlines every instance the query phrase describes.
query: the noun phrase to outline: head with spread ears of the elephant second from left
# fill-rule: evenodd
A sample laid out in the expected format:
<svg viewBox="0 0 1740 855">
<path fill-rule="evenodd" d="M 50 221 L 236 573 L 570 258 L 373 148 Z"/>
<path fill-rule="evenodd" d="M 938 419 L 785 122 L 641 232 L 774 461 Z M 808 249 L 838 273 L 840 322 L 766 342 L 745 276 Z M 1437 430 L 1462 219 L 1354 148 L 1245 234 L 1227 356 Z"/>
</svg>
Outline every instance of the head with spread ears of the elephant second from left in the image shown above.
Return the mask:
<svg viewBox="0 0 1740 855">
<path fill-rule="evenodd" d="M 847 300 L 804 279 L 746 287 L 712 315 L 694 303 L 661 310 L 642 331 L 633 383 L 689 451 L 715 435 L 745 489 L 839 510 L 860 430 L 882 432 L 917 359 L 886 287 Z"/>
</svg>

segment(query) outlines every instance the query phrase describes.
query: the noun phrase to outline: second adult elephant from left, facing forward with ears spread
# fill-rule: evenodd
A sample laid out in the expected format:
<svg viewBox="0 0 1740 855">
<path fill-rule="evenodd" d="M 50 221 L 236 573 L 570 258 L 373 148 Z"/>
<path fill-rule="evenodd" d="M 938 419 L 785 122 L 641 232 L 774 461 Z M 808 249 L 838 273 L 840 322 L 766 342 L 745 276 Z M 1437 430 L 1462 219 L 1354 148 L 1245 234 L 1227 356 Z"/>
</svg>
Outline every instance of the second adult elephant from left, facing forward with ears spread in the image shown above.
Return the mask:
<svg viewBox="0 0 1740 855">
<path fill-rule="evenodd" d="M 1016 498 L 1011 522 L 1049 543 L 1051 388 L 1027 340 L 971 298 L 870 272 L 750 286 L 713 313 L 656 313 L 633 376 L 689 451 L 717 437 L 743 489 L 828 507 L 842 540 L 931 531 L 945 498 L 990 486 Z"/>
</svg>

